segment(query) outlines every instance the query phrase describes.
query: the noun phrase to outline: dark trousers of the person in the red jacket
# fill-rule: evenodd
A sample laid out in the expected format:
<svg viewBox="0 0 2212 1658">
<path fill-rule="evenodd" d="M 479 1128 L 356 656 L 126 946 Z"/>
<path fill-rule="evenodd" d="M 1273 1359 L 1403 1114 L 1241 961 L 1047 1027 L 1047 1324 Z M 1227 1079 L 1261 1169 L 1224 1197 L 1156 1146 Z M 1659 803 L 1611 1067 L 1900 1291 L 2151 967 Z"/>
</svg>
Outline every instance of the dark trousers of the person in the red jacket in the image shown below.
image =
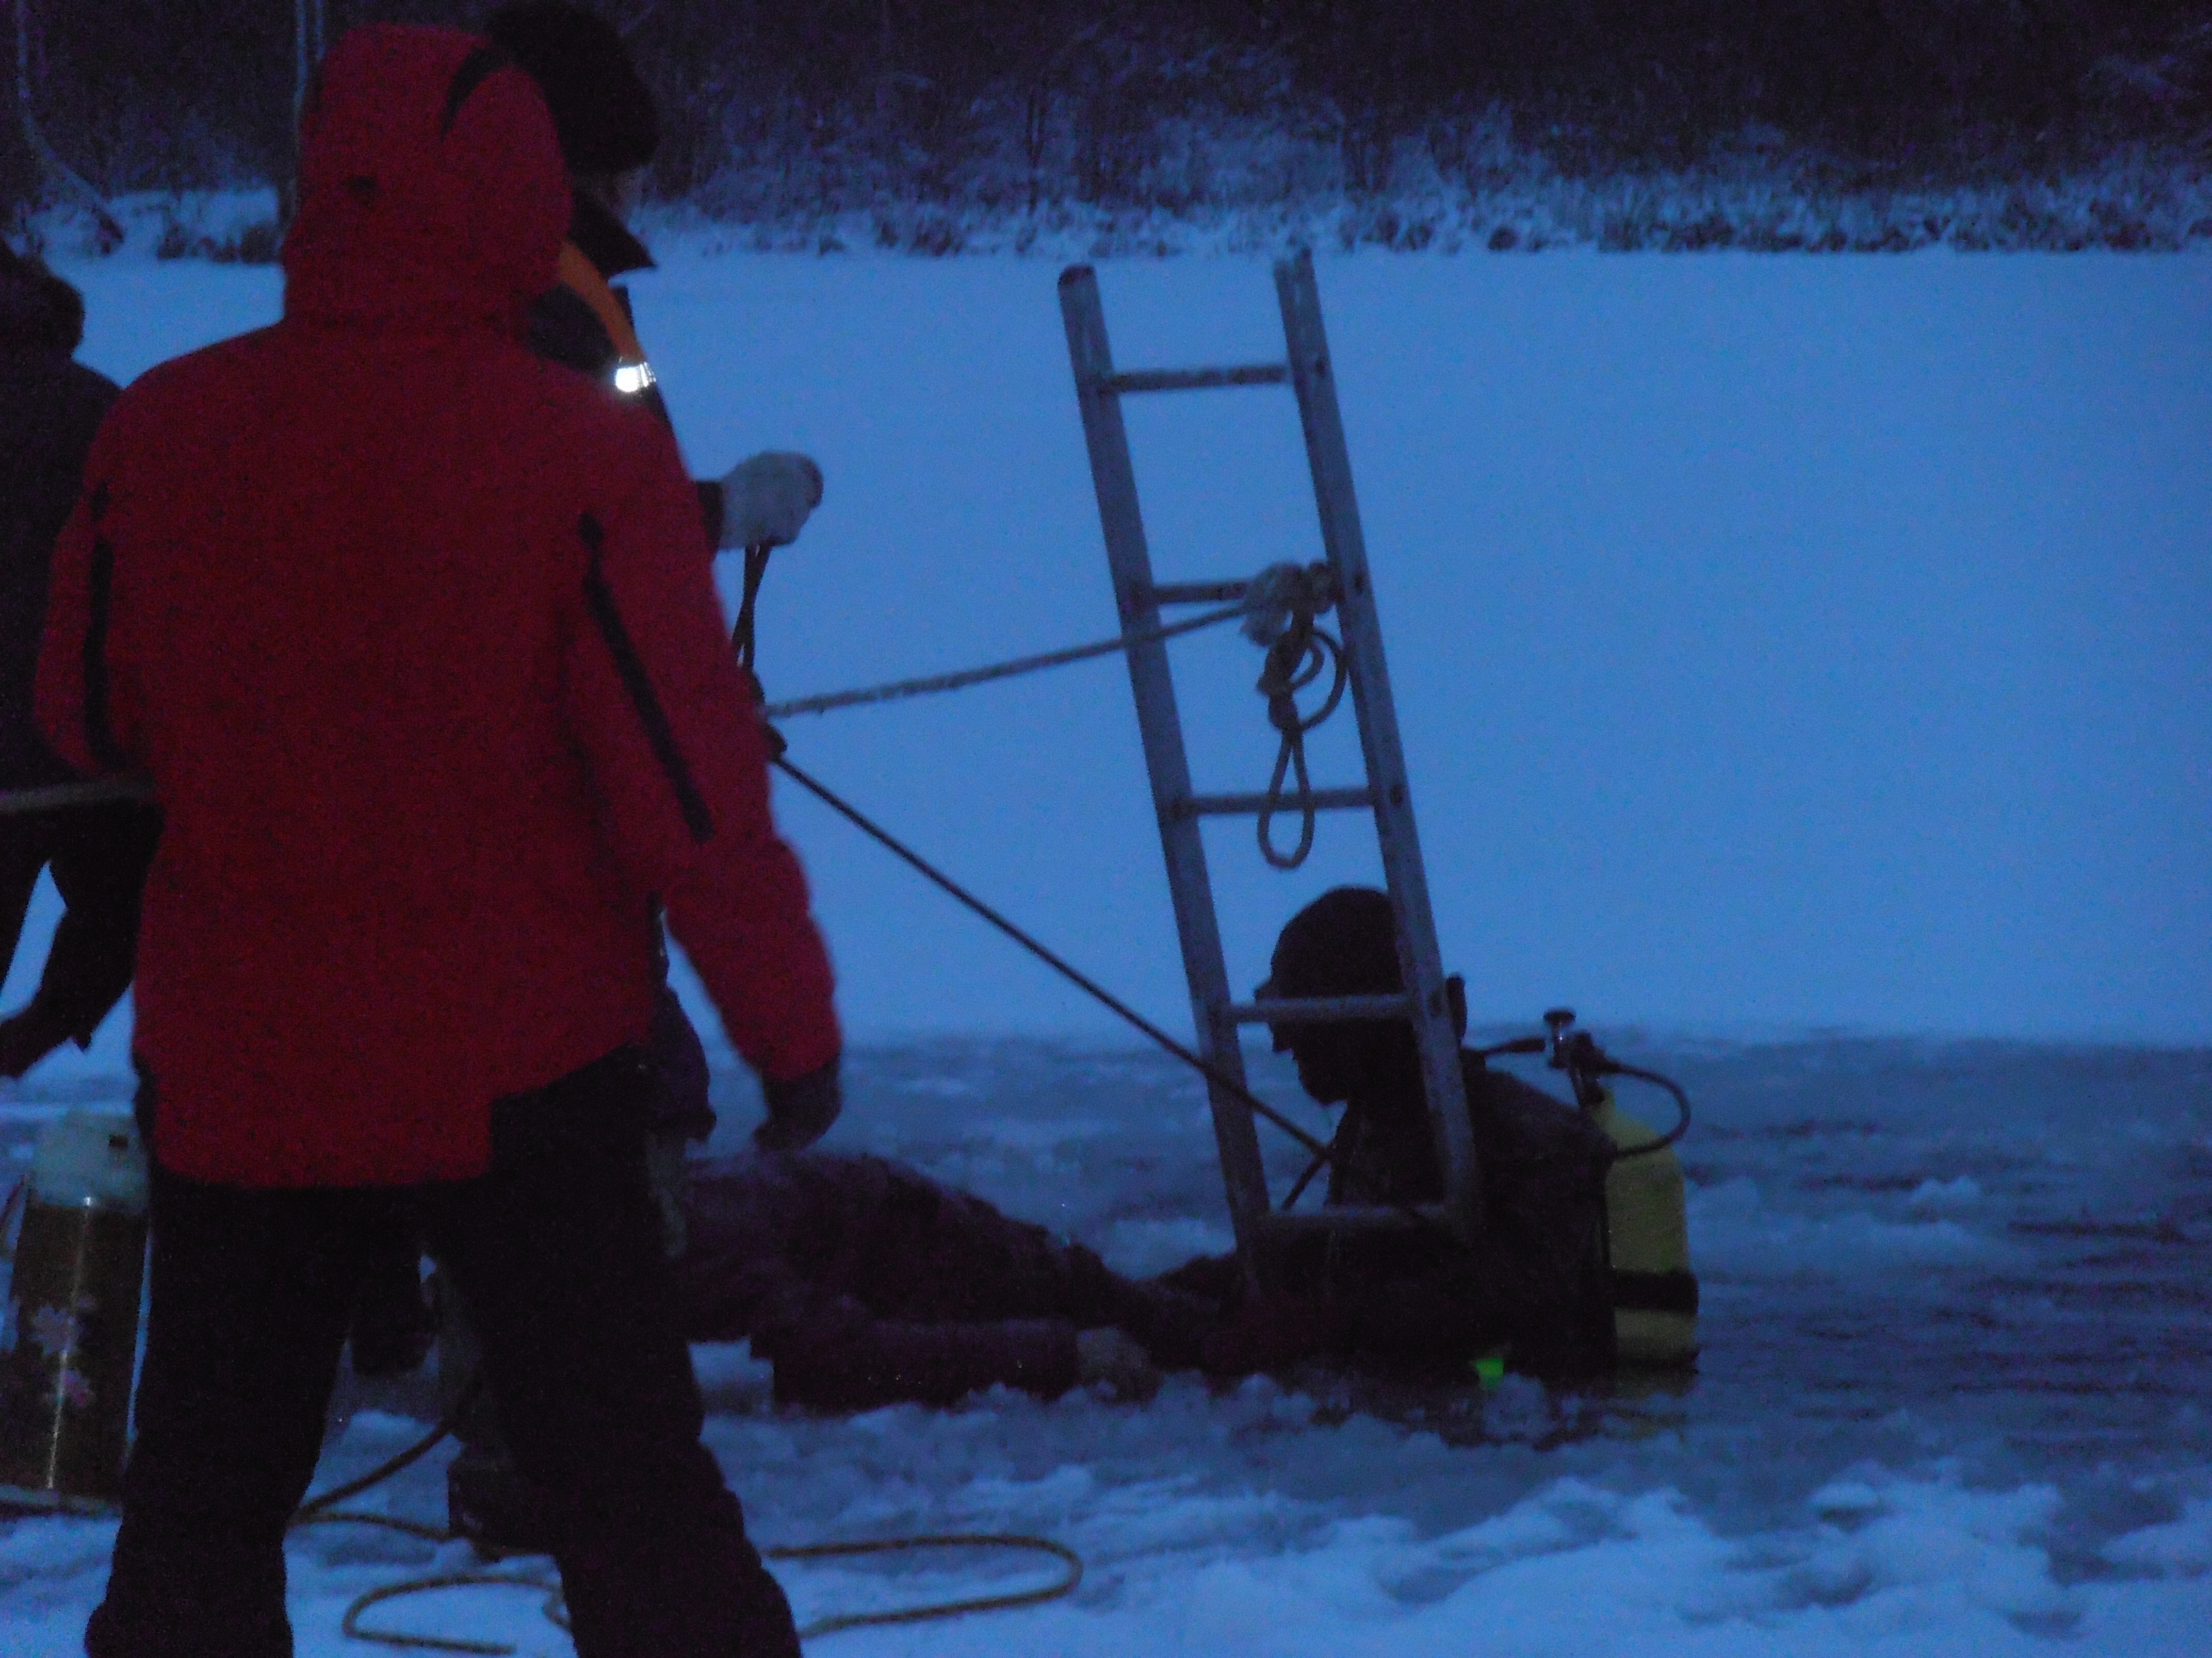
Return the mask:
<svg viewBox="0 0 2212 1658">
<path fill-rule="evenodd" d="M 699 1444 L 646 1085 L 624 1050 L 500 1101 L 478 1180 L 259 1192 L 157 1167 L 137 1444 L 93 1658 L 290 1656 L 285 1523 L 394 1209 L 460 1291 L 515 1466 L 546 1492 L 577 1654 L 796 1658 L 790 1603 Z"/>
</svg>

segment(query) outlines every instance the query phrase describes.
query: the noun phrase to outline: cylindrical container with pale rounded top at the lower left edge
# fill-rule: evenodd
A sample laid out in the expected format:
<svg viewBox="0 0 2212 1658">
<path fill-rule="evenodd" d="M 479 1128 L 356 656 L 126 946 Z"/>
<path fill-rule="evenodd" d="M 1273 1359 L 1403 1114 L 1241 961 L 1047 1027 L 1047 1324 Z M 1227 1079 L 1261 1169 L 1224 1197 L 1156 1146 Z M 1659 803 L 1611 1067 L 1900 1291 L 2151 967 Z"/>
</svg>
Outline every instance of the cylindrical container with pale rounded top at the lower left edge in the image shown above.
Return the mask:
<svg viewBox="0 0 2212 1658">
<path fill-rule="evenodd" d="M 115 1501 L 144 1278 L 137 1127 L 124 1112 L 69 1112 L 38 1138 L 0 1311 L 0 1503 Z"/>
</svg>

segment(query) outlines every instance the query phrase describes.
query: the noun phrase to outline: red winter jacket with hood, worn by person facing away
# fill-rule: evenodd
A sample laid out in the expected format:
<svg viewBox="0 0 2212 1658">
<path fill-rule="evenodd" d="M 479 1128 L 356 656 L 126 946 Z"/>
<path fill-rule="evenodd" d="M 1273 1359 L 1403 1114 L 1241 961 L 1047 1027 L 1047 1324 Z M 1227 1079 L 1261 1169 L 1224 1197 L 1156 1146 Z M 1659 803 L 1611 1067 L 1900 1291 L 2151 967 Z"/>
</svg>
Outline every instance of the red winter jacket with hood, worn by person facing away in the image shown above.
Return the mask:
<svg viewBox="0 0 2212 1658">
<path fill-rule="evenodd" d="M 234 1185 L 489 1165 L 489 1108 L 641 1041 L 653 898 L 768 1077 L 838 1052 L 699 502 L 657 420 L 520 343 L 568 188 L 449 29 L 330 55 L 276 327 L 102 427 L 40 725 L 153 776 L 137 1054 Z"/>
</svg>

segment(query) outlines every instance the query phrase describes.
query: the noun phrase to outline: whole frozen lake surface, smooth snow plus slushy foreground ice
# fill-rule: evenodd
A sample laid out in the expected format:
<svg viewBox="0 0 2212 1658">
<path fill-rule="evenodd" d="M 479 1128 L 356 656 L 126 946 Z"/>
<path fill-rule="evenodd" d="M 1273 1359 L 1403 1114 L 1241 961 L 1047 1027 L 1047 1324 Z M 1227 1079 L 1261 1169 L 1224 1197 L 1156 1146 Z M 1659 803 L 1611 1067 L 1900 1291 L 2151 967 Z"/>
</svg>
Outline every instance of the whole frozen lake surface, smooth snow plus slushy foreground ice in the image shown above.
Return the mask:
<svg viewBox="0 0 2212 1658">
<path fill-rule="evenodd" d="M 1668 1028 L 2212 1032 L 2212 309 L 2201 261 L 1325 261 L 1354 466 L 1447 953 L 1478 1021 L 1577 999 L 1690 1085 L 1694 1388 L 1402 1397 L 1325 1375 L 1141 1410 L 1020 1395 L 776 1413 L 701 1353 L 768 1543 L 1037 1530 L 1088 1561 L 1035 1612 L 863 1654 L 2201 1654 L 2212 1627 L 2212 1057 L 2192 1048 Z M 71 267 L 128 376 L 265 321 L 265 270 Z M 805 447 L 783 694 L 1110 630 L 1051 272 L 677 254 L 637 283 L 695 464 Z M 1276 349 L 1265 267 L 1110 267 L 1126 363 Z M 1312 553 L 1287 405 L 1133 411 L 1164 573 Z M 1206 780 L 1270 749 L 1245 646 L 1192 648 Z M 794 723 L 801 756 L 1186 1028 L 1110 663 Z M 1340 736 L 1340 734 L 1338 734 Z M 1323 758 L 1343 749 L 1323 745 Z M 905 1156 L 1148 1271 L 1225 1245 L 1203 1099 L 902 871 L 783 800 L 863 1037 L 834 1145 Z M 1239 982 L 1365 873 L 1214 840 Z M 42 904 L 49 915 L 51 902 Z M 29 990 L 24 964 L 7 999 Z M 1626 1030 L 1626 1015 L 1652 1030 Z M 1095 1030 L 1095 1028 L 1093 1028 Z M 20 1165 L 122 1099 L 126 1028 L 0 1090 Z M 717 1043 L 719 1048 L 719 1043 Z M 717 1052 L 723 1143 L 757 1110 Z M 1263 1085 L 1298 1121 L 1283 1068 Z M 1281 1185 L 1294 1147 L 1270 1150 Z M 361 1393 L 325 1479 L 420 1430 Z M 436 1459 L 378 1492 L 436 1517 Z M 113 1528 L 0 1528 L 0 1647 L 77 1649 Z M 307 1658 L 427 1545 L 294 1545 Z M 803 1616 L 1020 1561 L 790 1565 Z M 526 1594 L 394 1623 L 564 1645 Z"/>
</svg>

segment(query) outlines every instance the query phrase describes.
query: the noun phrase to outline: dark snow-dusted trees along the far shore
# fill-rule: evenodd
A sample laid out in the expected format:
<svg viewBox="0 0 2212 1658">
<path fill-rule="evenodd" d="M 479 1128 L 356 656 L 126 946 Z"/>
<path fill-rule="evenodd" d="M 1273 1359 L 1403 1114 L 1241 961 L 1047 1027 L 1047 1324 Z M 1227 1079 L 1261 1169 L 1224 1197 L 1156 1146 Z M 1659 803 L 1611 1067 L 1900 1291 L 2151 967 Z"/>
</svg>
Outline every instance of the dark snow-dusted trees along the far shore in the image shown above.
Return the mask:
<svg viewBox="0 0 2212 1658">
<path fill-rule="evenodd" d="M 40 130 L 104 192 L 279 177 L 296 20 L 473 22 L 436 0 L 15 0 Z M 2059 166 L 2199 146 L 2212 0 L 606 0 L 657 84 L 655 188 L 874 168 L 916 199 L 1175 206 L 1177 124 L 1287 130 L 1383 190 L 1405 141 L 1504 113 L 1568 172 L 1745 135 L 1845 166 Z M 13 40 L 9 42 L 15 44 Z M 15 53 L 9 53 L 13 62 Z M 7 77 L 0 208 L 38 164 Z M 827 172 L 825 172 L 827 170 Z M 827 190 L 830 186 L 818 186 Z M 1186 186 L 1188 188 L 1188 181 Z M 1161 195 L 1166 190 L 1166 197 Z M 745 197 L 745 192 L 739 192 Z M 757 192 L 745 199 L 757 199 Z M 987 190 L 987 199 L 995 199 Z"/>
</svg>

